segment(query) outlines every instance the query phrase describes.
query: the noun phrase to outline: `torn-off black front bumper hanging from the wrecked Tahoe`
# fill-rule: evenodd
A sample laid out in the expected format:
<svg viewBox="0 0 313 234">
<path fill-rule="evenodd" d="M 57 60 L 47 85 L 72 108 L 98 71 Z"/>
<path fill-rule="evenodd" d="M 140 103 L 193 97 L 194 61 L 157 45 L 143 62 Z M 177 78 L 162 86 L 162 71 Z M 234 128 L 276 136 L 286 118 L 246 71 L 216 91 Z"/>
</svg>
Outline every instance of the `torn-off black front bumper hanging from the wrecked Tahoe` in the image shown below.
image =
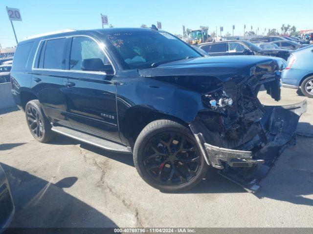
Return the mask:
<svg viewBox="0 0 313 234">
<path fill-rule="evenodd" d="M 212 140 L 217 135 L 212 134 L 199 119 L 190 124 L 206 162 L 221 169 L 219 173 L 222 176 L 249 192 L 256 192 L 260 188 L 260 180 L 267 175 L 277 157 L 287 146 L 295 143 L 295 131 L 300 116 L 307 110 L 307 101 L 285 106 L 264 106 L 264 110 L 265 114 L 259 121 L 261 131 L 243 144 L 241 149 L 212 144 L 222 141 Z"/>
</svg>

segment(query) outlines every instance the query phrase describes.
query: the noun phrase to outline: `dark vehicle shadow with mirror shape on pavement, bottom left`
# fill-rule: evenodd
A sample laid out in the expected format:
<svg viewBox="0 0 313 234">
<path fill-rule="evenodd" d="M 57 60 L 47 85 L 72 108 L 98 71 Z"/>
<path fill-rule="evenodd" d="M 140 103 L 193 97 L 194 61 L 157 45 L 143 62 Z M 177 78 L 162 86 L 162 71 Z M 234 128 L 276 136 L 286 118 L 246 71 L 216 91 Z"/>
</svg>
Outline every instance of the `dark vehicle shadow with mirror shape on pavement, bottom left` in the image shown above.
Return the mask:
<svg viewBox="0 0 313 234">
<path fill-rule="evenodd" d="M 1 163 L 1 166 L 8 178 L 16 209 L 10 229 L 117 227 L 106 215 L 64 191 L 75 184 L 77 177 L 46 181 L 9 165 Z"/>
</svg>

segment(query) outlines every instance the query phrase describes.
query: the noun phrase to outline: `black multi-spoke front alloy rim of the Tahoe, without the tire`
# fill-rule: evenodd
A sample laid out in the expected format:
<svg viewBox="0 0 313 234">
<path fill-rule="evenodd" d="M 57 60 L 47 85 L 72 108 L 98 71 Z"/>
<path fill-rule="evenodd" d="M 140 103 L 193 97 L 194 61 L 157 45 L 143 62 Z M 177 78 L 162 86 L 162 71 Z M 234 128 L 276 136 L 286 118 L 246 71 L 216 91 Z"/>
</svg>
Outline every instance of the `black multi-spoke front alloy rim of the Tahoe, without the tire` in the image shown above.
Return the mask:
<svg viewBox="0 0 313 234">
<path fill-rule="evenodd" d="M 144 152 L 145 170 L 160 184 L 181 185 L 196 176 L 200 168 L 195 142 L 178 132 L 157 134 L 147 142 Z"/>
</svg>

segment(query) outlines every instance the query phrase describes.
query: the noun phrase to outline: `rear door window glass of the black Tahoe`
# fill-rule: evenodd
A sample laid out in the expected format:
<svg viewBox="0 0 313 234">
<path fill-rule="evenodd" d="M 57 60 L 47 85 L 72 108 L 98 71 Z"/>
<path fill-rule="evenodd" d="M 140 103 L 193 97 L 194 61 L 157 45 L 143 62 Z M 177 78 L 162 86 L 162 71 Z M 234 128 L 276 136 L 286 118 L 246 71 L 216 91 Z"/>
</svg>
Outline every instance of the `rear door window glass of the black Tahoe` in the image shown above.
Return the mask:
<svg viewBox="0 0 313 234">
<path fill-rule="evenodd" d="M 65 42 L 65 38 L 46 40 L 42 46 L 37 67 L 62 69 L 62 65 L 65 63 L 63 57 Z"/>
</svg>

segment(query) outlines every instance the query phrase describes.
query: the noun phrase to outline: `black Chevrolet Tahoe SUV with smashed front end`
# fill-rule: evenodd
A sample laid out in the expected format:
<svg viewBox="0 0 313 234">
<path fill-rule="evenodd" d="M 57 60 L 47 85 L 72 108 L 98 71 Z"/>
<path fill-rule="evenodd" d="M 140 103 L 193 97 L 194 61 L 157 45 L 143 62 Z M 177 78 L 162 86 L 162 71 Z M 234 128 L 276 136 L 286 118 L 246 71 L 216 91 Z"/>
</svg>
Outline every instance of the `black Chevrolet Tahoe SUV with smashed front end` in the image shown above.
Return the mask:
<svg viewBox="0 0 313 234">
<path fill-rule="evenodd" d="M 150 29 L 65 30 L 17 46 L 12 93 L 33 137 L 56 133 L 134 155 L 139 175 L 162 191 L 189 189 L 208 165 L 250 191 L 293 142 L 306 102 L 280 99 L 285 62 L 203 57 Z"/>
</svg>

